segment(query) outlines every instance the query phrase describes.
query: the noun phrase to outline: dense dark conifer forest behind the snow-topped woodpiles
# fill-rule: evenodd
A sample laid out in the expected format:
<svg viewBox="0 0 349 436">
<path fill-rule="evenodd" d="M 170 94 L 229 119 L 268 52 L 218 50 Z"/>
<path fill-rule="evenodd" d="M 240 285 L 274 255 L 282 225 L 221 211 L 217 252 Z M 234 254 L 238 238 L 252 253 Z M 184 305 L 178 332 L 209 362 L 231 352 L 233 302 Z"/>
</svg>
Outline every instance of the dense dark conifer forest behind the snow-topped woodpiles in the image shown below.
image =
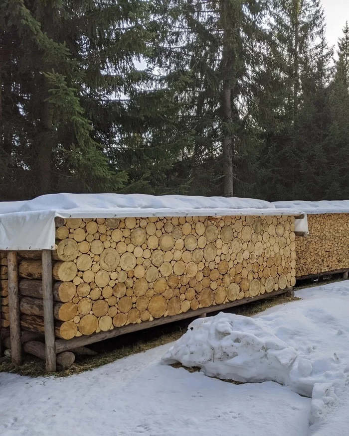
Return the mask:
<svg viewBox="0 0 349 436">
<path fill-rule="evenodd" d="M 349 198 L 320 0 L 1 0 L 0 85 L 0 201 Z"/>
</svg>

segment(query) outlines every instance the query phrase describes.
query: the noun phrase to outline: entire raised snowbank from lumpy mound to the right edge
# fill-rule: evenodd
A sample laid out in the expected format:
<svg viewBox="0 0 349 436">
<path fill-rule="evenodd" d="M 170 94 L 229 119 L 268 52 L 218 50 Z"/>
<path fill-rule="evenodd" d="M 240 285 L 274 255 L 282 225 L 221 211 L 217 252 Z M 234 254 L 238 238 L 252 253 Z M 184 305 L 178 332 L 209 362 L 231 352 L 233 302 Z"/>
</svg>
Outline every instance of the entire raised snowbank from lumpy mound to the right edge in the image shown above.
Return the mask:
<svg viewBox="0 0 349 436">
<path fill-rule="evenodd" d="M 289 386 L 312 398 L 313 424 L 348 381 L 348 310 L 344 292 L 293 302 L 255 318 L 220 313 L 197 319 L 163 362 L 199 367 L 222 380 Z"/>
</svg>

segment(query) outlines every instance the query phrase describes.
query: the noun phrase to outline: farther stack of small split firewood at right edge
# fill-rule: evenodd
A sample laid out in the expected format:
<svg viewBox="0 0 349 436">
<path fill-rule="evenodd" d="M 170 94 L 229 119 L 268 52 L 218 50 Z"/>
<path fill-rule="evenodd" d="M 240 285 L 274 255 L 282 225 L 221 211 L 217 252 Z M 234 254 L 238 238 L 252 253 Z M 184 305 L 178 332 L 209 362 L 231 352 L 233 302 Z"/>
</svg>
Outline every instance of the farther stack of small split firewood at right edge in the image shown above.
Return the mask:
<svg viewBox="0 0 349 436">
<path fill-rule="evenodd" d="M 296 238 L 296 276 L 349 268 L 349 214 L 308 215 L 309 236 Z"/>
</svg>

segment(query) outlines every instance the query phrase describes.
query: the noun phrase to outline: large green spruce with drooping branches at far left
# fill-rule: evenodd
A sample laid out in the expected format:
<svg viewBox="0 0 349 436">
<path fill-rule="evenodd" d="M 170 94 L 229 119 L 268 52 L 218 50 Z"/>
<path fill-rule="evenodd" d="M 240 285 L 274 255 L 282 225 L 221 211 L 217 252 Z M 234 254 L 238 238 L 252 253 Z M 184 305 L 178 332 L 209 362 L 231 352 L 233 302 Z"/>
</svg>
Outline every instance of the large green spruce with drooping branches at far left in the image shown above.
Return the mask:
<svg viewBox="0 0 349 436">
<path fill-rule="evenodd" d="M 1 1 L 0 197 L 124 185 L 108 151 L 149 80 L 134 61 L 154 29 L 142 0 Z"/>
</svg>

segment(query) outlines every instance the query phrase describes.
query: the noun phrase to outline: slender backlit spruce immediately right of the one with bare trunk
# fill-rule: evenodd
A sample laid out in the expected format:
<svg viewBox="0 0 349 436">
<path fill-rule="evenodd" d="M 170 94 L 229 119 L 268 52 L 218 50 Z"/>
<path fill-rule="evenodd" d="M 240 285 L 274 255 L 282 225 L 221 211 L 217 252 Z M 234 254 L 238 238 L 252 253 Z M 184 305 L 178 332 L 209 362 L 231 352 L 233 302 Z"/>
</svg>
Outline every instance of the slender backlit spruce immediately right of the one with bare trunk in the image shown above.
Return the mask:
<svg viewBox="0 0 349 436">
<path fill-rule="evenodd" d="M 321 42 L 324 25 L 319 0 L 273 3 L 269 23 L 272 42 L 268 62 L 260 73 L 268 85 L 267 92 L 261 96 L 264 101 L 257 118 L 262 142 L 259 159 L 263 168 L 259 196 L 263 198 L 299 198 L 308 183 L 303 168 L 311 145 L 305 144 L 302 134 L 316 122 L 310 119 L 307 112 L 310 108 L 306 106 L 315 105 L 309 87 L 314 91 L 316 86 L 312 81 L 320 66 L 316 65 L 315 50 L 319 44 L 325 44 L 324 39 Z M 326 47 L 323 52 L 321 56 L 327 57 L 328 62 Z M 317 92 L 321 94 L 323 85 L 320 82 L 318 85 Z M 306 102 L 307 94 L 310 100 Z M 317 109 L 313 109 L 313 115 L 317 116 Z"/>
</svg>

